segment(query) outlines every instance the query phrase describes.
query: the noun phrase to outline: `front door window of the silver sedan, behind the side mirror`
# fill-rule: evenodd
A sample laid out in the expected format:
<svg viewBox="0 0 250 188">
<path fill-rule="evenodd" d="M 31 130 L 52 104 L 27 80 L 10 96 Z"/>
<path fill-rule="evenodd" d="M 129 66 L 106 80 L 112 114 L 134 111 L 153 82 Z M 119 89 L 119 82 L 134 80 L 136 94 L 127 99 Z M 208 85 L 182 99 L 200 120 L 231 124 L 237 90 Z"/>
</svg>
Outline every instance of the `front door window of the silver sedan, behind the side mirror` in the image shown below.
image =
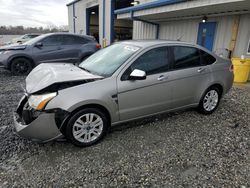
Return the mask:
<svg viewBox="0 0 250 188">
<path fill-rule="evenodd" d="M 147 51 L 131 65 L 131 71 L 139 69 L 145 71 L 147 75 L 166 72 L 169 69 L 167 52 L 167 47 Z"/>
</svg>

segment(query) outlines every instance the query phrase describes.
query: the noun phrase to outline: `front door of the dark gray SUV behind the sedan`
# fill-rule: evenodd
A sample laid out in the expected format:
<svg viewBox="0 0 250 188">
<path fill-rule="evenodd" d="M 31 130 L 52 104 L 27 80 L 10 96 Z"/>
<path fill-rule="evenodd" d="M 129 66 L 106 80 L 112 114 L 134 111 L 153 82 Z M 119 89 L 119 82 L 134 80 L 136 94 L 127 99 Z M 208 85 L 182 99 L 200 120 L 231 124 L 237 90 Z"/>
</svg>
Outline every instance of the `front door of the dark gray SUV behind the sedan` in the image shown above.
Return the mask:
<svg viewBox="0 0 250 188">
<path fill-rule="evenodd" d="M 58 62 L 62 60 L 62 37 L 60 35 L 48 36 L 39 41 L 41 47 L 33 47 L 33 58 L 38 63 Z"/>
</svg>

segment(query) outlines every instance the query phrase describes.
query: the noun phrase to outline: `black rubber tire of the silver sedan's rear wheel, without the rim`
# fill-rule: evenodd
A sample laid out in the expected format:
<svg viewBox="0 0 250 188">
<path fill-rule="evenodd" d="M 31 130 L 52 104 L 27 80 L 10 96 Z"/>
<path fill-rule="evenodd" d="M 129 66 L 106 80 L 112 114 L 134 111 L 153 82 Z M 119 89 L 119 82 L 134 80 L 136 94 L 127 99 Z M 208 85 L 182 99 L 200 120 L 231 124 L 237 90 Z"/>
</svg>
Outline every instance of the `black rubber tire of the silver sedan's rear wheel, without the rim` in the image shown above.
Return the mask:
<svg viewBox="0 0 250 188">
<path fill-rule="evenodd" d="M 218 98 L 217 98 L 216 104 L 215 104 L 216 100 L 214 99 L 214 104 L 211 105 L 210 106 L 211 109 L 209 109 L 209 107 L 206 105 L 206 101 L 208 101 L 206 96 L 209 96 L 209 93 L 213 93 L 213 92 L 215 92 L 214 93 L 215 96 L 218 95 Z M 221 91 L 217 87 L 212 86 L 208 88 L 200 100 L 200 103 L 198 106 L 198 112 L 200 112 L 201 114 L 205 114 L 205 115 L 212 114 L 218 108 L 220 99 L 221 99 Z"/>
</svg>

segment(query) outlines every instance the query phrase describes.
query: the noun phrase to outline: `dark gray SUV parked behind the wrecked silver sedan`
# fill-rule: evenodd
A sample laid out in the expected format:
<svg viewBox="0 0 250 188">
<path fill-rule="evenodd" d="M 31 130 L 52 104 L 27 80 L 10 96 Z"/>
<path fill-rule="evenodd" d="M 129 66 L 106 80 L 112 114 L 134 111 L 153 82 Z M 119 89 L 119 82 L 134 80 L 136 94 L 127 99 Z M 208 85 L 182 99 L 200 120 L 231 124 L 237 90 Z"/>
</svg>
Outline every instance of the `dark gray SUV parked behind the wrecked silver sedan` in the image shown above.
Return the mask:
<svg viewBox="0 0 250 188">
<path fill-rule="evenodd" d="M 0 48 L 0 64 L 13 74 L 29 73 L 40 63 L 79 64 L 100 49 L 94 37 L 69 33 L 49 33 L 22 45 Z"/>
</svg>

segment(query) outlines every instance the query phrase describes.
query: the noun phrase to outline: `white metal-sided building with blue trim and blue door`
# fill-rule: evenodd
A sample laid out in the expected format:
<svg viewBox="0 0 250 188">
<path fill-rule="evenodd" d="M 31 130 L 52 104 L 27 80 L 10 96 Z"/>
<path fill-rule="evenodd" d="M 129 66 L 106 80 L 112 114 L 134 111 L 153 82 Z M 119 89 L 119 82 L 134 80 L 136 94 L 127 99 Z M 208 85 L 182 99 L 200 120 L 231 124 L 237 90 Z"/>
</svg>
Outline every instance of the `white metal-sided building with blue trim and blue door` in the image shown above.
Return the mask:
<svg viewBox="0 0 250 188">
<path fill-rule="evenodd" d="M 179 39 L 250 58 L 250 0 L 75 0 L 67 6 L 70 32 L 95 35 L 102 45 Z"/>
</svg>

